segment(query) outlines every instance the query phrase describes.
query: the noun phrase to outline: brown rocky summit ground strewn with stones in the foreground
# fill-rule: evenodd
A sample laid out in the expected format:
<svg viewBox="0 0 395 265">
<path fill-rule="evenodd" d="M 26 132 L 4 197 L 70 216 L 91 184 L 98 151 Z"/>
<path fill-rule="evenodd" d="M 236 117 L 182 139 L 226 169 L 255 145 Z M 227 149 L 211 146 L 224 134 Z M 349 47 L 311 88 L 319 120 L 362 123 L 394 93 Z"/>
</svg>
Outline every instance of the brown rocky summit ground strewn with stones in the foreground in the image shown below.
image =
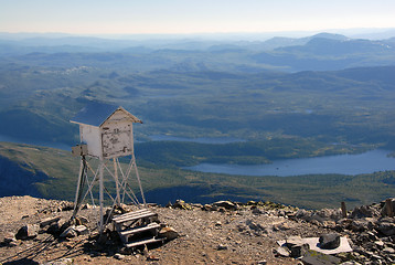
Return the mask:
<svg viewBox="0 0 395 265">
<path fill-rule="evenodd" d="M 131 206 L 129 210 L 134 210 Z M 63 223 L 73 213 L 65 201 L 32 197 L 0 198 L 1 264 L 309 264 L 302 257 L 280 254 L 279 240 L 328 233 L 348 236 L 351 253 L 322 264 L 394 264 L 395 222 L 377 203 L 350 211 L 306 211 L 270 202 L 210 205 L 178 201 L 171 206 L 149 205 L 162 226 L 178 232 L 164 244 L 126 248 L 111 225 L 102 242 L 97 234 L 98 209 L 85 206 L 78 220 L 86 233 L 60 237 L 46 220 Z M 26 225 L 26 226 L 25 226 Z M 61 226 L 61 225 L 58 225 Z M 21 236 L 21 229 L 29 227 Z M 305 255 L 305 254 L 302 254 Z"/>
</svg>

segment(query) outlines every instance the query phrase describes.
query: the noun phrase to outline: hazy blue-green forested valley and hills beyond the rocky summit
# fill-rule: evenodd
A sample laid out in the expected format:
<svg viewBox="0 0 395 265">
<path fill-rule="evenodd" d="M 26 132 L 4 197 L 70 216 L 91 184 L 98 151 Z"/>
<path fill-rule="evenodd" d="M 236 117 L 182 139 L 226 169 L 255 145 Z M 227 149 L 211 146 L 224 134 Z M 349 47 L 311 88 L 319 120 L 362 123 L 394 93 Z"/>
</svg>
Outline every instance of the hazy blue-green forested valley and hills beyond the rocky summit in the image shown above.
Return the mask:
<svg viewBox="0 0 395 265">
<path fill-rule="evenodd" d="M 252 177 L 182 168 L 394 151 L 394 43 L 328 33 L 243 43 L 0 39 L 0 135 L 20 142 L 1 142 L 0 178 L 29 179 L 28 188 L 0 195 L 72 200 L 78 160 L 38 144 L 78 144 L 70 119 L 96 100 L 142 119 L 136 156 L 152 202 L 270 200 L 319 209 L 381 201 L 394 194 L 393 170 Z"/>
</svg>

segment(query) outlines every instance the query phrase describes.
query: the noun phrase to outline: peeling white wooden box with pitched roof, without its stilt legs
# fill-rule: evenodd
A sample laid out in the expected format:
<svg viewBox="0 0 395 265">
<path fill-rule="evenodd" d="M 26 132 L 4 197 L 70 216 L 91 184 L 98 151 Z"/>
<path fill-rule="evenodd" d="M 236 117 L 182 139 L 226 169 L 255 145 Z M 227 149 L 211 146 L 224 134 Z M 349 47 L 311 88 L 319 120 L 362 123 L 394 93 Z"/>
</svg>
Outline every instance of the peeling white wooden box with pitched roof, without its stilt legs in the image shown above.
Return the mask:
<svg viewBox="0 0 395 265">
<path fill-rule="evenodd" d="M 73 155 L 100 160 L 132 155 L 132 124 L 142 124 L 125 108 L 102 103 L 88 104 L 71 123 L 79 125 L 82 142 L 72 148 Z"/>
</svg>

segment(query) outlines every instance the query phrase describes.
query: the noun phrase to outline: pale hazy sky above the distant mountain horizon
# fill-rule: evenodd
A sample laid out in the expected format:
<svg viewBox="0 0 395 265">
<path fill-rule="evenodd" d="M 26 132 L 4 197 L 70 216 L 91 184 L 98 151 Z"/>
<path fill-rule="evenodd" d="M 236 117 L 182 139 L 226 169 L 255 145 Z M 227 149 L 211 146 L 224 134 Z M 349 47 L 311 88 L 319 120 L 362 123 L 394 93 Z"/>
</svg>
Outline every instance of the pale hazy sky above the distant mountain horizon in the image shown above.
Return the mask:
<svg viewBox="0 0 395 265">
<path fill-rule="evenodd" d="M 228 33 L 395 28 L 395 0 L 0 0 L 0 32 Z"/>
</svg>

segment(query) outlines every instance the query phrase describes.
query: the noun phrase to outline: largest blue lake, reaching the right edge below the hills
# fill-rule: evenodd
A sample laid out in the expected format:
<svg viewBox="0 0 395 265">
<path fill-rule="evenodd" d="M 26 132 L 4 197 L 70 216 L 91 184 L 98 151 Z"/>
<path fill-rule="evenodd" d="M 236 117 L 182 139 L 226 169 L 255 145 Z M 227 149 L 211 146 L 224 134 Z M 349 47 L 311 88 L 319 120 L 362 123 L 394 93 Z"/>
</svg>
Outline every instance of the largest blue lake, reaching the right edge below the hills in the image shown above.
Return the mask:
<svg viewBox="0 0 395 265">
<path fill-rule="evenodd" d="M 339 155 L 316 158 L 275 160 L 270 165 L 213 165 L 200 163 L 184 169 L 226 174 L 278 176 L 298 174 L 360 174 L 394 170 L 395 158 L 388 157 L 388 150 L 372 150 L 359 155 Z"/>
</svg>

